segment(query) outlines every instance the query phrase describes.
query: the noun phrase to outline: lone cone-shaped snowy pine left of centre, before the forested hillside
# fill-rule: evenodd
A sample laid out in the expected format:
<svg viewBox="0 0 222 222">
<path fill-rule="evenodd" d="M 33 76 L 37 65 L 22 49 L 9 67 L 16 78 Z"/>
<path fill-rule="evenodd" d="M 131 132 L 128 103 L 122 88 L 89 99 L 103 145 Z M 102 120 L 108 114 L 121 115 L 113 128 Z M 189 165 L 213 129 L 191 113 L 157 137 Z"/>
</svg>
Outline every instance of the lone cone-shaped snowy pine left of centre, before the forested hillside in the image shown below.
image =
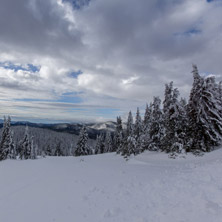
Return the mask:
<svg viewBox="0 0 222 222">
<path fill-rule="evenodd" d="M 88 141 L 88 134 L 86 131 L 86 127 L 83 126 L 80 131 L 76 149 L 74 151 L 75 156 L 83 156 L 89 154 L 89 147 L 87 141 Z"/>
</svg>

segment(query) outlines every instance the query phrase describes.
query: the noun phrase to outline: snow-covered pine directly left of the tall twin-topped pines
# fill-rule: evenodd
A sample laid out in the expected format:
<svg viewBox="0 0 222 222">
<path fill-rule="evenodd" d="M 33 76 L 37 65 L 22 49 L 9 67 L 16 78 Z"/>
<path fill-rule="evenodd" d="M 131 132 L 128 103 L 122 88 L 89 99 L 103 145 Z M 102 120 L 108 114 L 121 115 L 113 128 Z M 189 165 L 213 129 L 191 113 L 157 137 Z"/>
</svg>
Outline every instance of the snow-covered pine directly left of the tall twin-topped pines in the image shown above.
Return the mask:
<svg viewBox="0 0 222 222">
<path fill-rule="evenodd" d="M 157 151 L 161 149 L 161 140 L 164 135 L 163 113 L 160 109 L 161 100 L 159 97 L 153 99 L 152 119 L 150 126 L 150 141 L 148 149 Z"/>
</svg>

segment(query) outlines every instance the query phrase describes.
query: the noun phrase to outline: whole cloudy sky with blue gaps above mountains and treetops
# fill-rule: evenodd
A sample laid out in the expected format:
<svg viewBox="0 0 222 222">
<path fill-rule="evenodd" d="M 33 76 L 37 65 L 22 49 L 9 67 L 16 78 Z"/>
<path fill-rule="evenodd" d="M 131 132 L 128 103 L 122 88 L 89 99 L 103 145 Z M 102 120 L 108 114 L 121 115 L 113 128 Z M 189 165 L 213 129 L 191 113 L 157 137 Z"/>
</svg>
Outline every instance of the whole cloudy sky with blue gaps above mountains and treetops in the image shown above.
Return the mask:
<svg viewBox="0 0 222 222">
<path fill-rule="evenodd" d="M 114 120 L 192 63 L 222 73 L 221 0 L 0 0 L 0 116 Z"/>
</svg>

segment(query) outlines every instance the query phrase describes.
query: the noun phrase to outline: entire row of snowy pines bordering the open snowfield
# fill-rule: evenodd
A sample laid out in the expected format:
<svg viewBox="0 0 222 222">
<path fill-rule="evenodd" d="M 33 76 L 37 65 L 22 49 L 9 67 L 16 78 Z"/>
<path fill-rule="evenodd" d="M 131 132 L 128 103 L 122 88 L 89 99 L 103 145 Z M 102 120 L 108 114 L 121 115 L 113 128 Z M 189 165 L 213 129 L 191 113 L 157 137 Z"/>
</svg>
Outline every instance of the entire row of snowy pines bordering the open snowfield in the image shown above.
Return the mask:
<svg viewBox="0 0 222 222">
<path fill-rule="evenodd" d="M 143 118 L 137 108 L 135 121 L 130 111 L 126 127 L 118 116 L 115 132 L 107 131 L 97 136 L 94 146 L 88 144 L 87 128 L 83 126 L 75 147 L 71 152 L 66 151 L 66 155 L 116 152 L 128 157 L 150 150 L 175 157 L 186 152 L 212 151 L 222 141 L 222 83 L 217 83 L 214 76 L 200 76 L 196 65 L 193 65 L 192 73 L 193 85 L 188 102 L 179 97 L 179 90 L 170 82 L 165 85 L 162 103 L 159 97 L 154 97 L 153 102 L 146 105 Z M 10 122 L 10 117 L 4 118 L 0 160 L 35 159 L 37 155 L 64 156 L 64 148 L 59 143 L 40 150 L 34 144 L 33 136 L 29 135 L 28 127 L 15 146 Z"/>
</svg>

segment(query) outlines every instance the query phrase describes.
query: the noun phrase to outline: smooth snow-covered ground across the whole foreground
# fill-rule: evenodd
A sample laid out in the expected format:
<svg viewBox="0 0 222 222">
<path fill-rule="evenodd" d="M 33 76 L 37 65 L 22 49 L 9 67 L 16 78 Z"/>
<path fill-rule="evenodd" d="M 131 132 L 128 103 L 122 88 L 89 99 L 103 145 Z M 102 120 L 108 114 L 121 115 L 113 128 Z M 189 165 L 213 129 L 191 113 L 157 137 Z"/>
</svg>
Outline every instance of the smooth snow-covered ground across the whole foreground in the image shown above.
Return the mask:
<svg viewBox="0 0 222 222">
<path fill-rule="evenodd" d="M 0 162 L 1 222 L 220 222 L 222 149 Z"/>
</svg>

